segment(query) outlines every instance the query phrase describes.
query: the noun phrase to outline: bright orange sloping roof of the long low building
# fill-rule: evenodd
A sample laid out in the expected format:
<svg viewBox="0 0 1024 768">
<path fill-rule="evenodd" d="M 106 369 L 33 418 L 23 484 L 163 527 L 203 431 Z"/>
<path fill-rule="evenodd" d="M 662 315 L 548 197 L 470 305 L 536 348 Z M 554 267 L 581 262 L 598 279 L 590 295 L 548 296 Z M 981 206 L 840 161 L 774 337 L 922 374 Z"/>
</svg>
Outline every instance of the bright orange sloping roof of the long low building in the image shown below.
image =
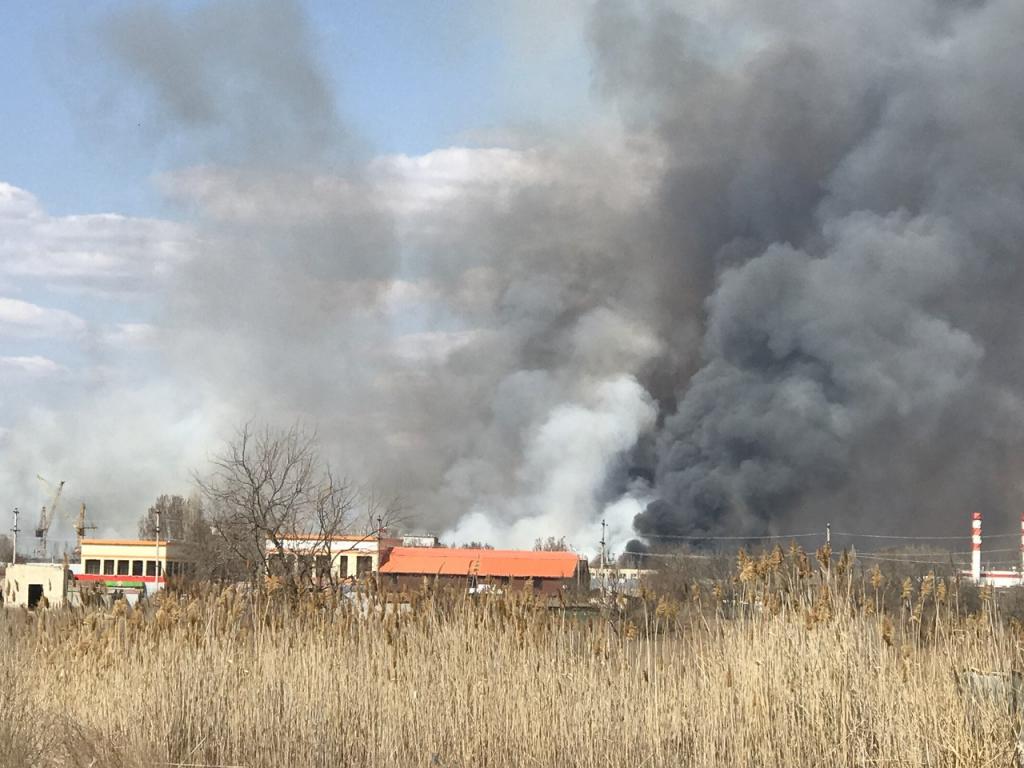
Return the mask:
<svg viewBox="0 0 1024 768">
<path fill-rule="evenodd" d="M 381 573 L 571 579 L 580 565 L 573 552 L 395 547 Z"/>
</svg>

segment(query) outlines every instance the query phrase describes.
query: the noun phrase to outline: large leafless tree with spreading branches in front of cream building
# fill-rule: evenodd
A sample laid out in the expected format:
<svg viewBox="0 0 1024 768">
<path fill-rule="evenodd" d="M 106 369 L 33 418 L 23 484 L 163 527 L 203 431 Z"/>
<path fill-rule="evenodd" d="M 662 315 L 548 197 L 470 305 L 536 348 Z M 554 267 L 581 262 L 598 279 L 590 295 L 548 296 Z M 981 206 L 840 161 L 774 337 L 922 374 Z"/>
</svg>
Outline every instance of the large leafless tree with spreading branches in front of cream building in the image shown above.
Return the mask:
<svg viewBox="0 0 1024 768">
<path fill-rule="evenodd" d="M 251 577 L 268 572 L 271 558 L 288 562 L 295 536 L 310 542 L 306 556 L 330 558 L 334 537 L 351 522 L 356 490 L 323 461 L 315 432 L 299 424 L 247 423 L 211 464 L 196 481 L 217 538 Z"/>
</svg>

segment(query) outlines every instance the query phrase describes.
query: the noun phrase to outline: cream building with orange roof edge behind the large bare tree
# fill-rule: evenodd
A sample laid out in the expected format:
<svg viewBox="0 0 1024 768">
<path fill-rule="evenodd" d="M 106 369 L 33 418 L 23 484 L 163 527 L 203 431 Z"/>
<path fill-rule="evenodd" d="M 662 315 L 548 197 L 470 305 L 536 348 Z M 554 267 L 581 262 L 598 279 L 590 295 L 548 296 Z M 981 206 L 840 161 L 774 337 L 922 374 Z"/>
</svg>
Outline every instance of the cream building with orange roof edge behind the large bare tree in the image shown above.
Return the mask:
<svg viewBox="0 0 1024 768">
<path fill-rule="evenodd" d="M 288 534 L 280 548 L 267 541 L 270 573 L 291 573 L 317 582 L 360 580 L 376 575 L 386 553 L 399 539 L 374 534 Z"/>
</svg>

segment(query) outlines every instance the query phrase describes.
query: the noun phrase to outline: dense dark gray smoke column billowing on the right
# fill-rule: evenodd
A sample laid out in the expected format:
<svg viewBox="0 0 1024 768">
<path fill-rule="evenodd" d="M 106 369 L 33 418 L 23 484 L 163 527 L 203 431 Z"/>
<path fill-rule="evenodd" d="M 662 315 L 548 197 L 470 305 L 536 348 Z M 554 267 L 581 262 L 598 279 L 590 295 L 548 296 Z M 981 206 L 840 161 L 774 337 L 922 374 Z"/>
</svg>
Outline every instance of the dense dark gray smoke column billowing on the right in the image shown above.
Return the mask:
<svg viewBox="0 0 1024 768">
<path fill-rule="evenodd" d="M 667 247 L 708 293 L 637 529 L 1013 519 L 1024 11 L 717 7 L 595 23 L 606 90 L 667 153 Z"/>
</svg>

